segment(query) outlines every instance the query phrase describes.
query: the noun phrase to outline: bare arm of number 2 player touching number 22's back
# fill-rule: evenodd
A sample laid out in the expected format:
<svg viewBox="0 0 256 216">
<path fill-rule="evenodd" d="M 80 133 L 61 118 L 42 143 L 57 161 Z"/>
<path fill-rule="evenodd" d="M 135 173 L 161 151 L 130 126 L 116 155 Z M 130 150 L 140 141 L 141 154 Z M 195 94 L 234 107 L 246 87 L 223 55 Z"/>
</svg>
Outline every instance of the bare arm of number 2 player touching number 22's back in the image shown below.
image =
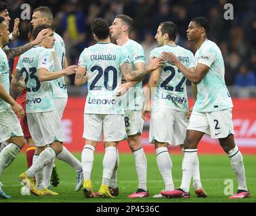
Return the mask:
<svg viewBox="0 0 256 216">
<path fill-rule="evenodd" d="M 179 71 L 182 72 L 182 74 L 184 74 L 184 76 L 186 76 L 186 78 L 194 84 L 200 83 L 202 78 L 204 78 L 209 71 L 209 67 L 202 63 L 198 63 L 196 65 L 195 72 L 190 71 L 177 59 L 173 53 L 163 52 L 162 57 L 165 59 L 165 61 L 168 61 L 169 63 L 179 68 Z"/>
</svg>

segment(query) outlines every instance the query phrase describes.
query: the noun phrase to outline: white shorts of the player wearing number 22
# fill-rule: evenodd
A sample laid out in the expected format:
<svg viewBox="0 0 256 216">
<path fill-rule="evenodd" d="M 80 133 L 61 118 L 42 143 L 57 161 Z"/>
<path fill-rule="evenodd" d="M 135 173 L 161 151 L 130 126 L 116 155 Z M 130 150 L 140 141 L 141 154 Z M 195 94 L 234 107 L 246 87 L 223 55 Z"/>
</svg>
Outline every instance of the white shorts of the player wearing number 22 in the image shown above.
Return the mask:
<svg viewBox="0 0 256 216">
<path fill-rule="evenodd" d="M 152 109 L 149 141 L 153 144 L 155 141 L 167 142 L 175 146 L 183 144 L 187 125 L 186 112 L 174 109 Z"/>
</svg>

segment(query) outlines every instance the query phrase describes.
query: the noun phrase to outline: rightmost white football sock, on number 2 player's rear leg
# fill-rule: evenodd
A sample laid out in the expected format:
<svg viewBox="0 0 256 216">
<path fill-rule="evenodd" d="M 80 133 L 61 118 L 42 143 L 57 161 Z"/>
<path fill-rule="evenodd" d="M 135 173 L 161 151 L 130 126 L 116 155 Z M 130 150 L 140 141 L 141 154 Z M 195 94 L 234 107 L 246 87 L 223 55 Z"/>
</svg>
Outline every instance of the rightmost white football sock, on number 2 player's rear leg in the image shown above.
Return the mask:
<svg viewBox="0 0 256 216">
<path fill-rule="evenodd" d="M 244 162 L 238 146 L 235 146 L 228 152 L 228 157 L 230 157 L 232 169 L 234 170 L 234 173 L 236 173 L 238 190 L 248 190 L 247 182 L 245 180 Z"/>
</svg>

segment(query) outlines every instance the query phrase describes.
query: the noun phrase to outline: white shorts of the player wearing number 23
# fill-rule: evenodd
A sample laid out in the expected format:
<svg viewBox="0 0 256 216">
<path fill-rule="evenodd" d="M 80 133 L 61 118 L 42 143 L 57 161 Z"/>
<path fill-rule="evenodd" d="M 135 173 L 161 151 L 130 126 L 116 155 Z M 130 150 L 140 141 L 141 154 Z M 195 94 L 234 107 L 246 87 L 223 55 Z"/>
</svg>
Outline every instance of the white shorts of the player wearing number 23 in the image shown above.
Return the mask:
<svg viewBox="0 0 256 216">
<path fill-rule="evenodd" d="M 64 142 L 62 124 L 56 111 L 26 113 L 28 128 L 35 146 L 45 146 L 54 141 Z"/>
</svg>

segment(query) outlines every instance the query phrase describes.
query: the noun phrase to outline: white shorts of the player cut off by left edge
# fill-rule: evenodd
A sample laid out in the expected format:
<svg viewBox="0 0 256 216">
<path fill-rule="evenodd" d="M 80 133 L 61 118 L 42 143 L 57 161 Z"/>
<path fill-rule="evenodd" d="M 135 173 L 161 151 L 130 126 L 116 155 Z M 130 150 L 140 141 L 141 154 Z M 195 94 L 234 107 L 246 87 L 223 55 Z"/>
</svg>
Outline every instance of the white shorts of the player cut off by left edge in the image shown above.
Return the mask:
<svg viewBox="0 0 256 216">
<path fill-rule="evenodd" d="M 0 112 L 0 142 L 12 136 L 24 136 L 20 121 L 12 109 Z"/>
</svg>

